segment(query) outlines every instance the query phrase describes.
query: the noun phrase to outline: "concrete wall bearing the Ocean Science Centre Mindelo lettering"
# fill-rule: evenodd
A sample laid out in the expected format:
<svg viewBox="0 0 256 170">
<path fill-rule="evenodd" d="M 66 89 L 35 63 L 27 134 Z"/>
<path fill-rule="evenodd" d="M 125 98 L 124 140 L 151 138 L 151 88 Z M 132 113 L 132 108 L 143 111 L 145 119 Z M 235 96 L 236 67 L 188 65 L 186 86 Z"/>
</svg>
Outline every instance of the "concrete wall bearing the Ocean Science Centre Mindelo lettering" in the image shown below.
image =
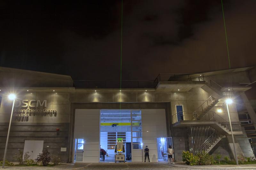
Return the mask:
<svg viewBox="0 0 256 170">
<path fill-rule="evenodd" d="M 21 107 L 19 100 L 46 100 L 46 107 Z M 35 105 L 36 101 L 31 102 Z M 20 93 L 15 102 L 15 110 L 38 109 L 41 112 L 16 112 L 12 117 L 12 126 L 8 145 L 7 160 L 13 161 L 13 155 L 18 149 L 23 151 L 25 140 L 44 140 L 44 149 L 50 154 L 60 154 L 62 162 L 68 161 L 68 152 L 60 152 L 61 147 L 68 148 L 70 102 L 68 93 L 53 92 L 27 92 Z M 24 104 L 25 105 L 25 104 Z M 44 109 L 56 110 L 56 112 L 43 112 Z M 8 125 L 12 110 L 12 101 L 3 95 L 0 107 L 0 157 L 3 157 Z M 28 114 L 28 116 L 16 116 L 15 114 Z M 59 131 L 57 131 L 59 129 Z M 47 147 L 48 146 L 48 147 Z"/>
</svg>

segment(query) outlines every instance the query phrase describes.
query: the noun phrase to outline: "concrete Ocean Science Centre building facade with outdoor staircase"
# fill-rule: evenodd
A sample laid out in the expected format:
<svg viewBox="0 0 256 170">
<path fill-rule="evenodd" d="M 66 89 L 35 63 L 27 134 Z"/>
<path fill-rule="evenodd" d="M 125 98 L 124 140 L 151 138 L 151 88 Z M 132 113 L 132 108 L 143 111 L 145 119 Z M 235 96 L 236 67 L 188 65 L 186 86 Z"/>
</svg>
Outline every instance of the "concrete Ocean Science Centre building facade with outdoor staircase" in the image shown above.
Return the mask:
<svg viewBox="0 0 256 170">
<path fill-rule="evenodd" d="M 100 148 L 112 153 L 109 141 L 116 140 L 121 132 L 125 132 L 127 147 L 131 145 L 132 161 L 144 161 L 146 145 L 151 161 L 165 160 L 168 145 L 173 146 L 177 161 L 186 150 L 220 152 L 223 157 L 234 158 L 225 104 L 228 98 L 234 100 L 228 107 L 238 155 L 254 157 L 236 102 L 241 94 L 246 102 L 244 92 L 251 87 L 240 83 L 252 82 L 251 71 L 254 68 L 159 74 L 151 87 L 120 91 L 120 88 L 100 88 L 94 84 L 94 88 L 76 87 L 70 76 L 1 67 L 0 157 L 4 155 L 12 110 L 10 93 L 15 93 L 17 98 L 7 160 L 12 161 L 18 150 L 42 148 L 59 154 L 63 162 L 99 162 Z M 246 109 L 253 114 L 250 106 Z M 119 117 L 115 110 L 120 110 Z M 104 114 L 107 114 L 105 118 Z M 114 132 L 113 138 L 110 134 Z M 40 149 L 35 149 L 34 155 L 30 153 L 31 158 L 37 152 Z"/>
</svg>

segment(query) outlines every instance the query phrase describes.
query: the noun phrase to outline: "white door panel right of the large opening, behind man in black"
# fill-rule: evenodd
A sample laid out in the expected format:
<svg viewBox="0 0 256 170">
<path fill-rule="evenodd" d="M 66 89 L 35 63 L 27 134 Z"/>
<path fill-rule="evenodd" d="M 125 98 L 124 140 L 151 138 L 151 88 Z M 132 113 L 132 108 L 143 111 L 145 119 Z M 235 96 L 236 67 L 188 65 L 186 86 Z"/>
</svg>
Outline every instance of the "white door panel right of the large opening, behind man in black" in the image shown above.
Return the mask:
<svg viewBox="0 0 256 170">
<path fill-rule="evenodd" d="M 165 109 L 142 109 L 141 119 L 143 150 L 148 146 L 150 161 L 157 162 L 156 138 L 167 137 Z"/>
</svg>

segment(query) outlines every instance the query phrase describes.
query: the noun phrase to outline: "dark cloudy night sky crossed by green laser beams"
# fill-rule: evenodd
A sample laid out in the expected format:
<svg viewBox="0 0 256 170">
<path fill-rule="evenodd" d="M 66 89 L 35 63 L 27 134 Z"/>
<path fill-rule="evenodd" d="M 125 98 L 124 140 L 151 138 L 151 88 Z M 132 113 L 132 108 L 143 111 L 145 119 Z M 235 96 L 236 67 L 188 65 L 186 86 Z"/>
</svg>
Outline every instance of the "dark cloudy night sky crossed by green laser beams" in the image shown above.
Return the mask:
<svg viewBox="0 0 256 170">
<path fill-rule="evenodd" d="M 223 0 L 231 68 L 256 65 L 256 1 Z M 0 66 L 120 79 L 121 0 L 0 0 Z M 228 69 L 220 0 L 123 0 L 123 78 Z"/>
</svg>

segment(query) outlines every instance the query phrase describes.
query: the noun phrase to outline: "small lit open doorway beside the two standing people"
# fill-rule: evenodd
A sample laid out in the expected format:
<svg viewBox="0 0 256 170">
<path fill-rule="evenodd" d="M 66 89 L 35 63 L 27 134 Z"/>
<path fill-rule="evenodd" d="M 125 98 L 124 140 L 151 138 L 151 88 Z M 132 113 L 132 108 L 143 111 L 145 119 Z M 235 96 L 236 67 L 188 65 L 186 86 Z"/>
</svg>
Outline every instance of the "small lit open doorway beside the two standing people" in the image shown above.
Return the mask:
<svg viewBox="0 0 256 170">
<path fill-rule="evenodd" d="M 157 142 L 157 155 L 158 155 L 158 162 L 160 161 L 168 161 L 168 148 L 169 145 L 172 146 L 172 137 L 158 137 L 156 138 Z"/>
</svg>

